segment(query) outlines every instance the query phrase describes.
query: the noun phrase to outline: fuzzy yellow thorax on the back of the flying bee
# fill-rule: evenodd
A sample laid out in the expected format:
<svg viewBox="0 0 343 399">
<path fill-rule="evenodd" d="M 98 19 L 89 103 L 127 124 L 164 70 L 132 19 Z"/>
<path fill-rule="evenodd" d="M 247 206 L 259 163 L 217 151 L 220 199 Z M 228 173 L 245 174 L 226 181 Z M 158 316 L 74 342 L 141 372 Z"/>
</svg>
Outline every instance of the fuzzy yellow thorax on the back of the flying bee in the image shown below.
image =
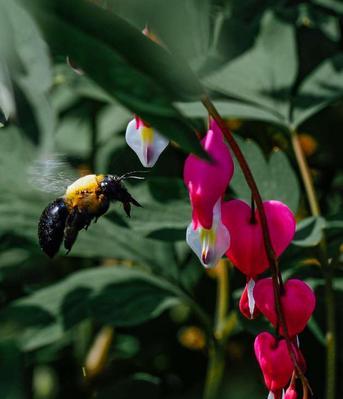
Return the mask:
<svg viewBox="0 0 343 399">
<path fill-rule="evenodd" d="M 80 177 L 67 187 L 64 199 L 70 208 L 78 207 L 89 213 L 96 213 L 104 201 L 99 191 L 103 175 L 87 175 Z"/>
</svg>

